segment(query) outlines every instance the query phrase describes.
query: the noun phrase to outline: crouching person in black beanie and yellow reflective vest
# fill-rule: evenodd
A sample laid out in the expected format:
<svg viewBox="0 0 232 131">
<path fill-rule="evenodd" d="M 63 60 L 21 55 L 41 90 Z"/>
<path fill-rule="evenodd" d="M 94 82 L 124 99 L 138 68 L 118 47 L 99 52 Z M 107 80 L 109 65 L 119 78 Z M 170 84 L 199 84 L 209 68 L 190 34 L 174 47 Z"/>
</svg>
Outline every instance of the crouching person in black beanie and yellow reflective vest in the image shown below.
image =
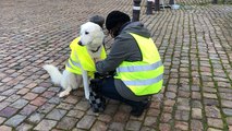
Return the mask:
<svg viewBox="0 0 232 131">
<path fill-rule="evenodd" d="M 162 87 L 158 49 L 149 31 L 121 11 L 108 14 L 106 27 L 114 41 L 107 58 L 96 62 L 96 70 L 100 74 L 115 71 L 115 75 L 96 84 L 101 95 L 130 105 L 131 115 L 138 117 L 149 107 L 149 97 Z"/>
</svg>

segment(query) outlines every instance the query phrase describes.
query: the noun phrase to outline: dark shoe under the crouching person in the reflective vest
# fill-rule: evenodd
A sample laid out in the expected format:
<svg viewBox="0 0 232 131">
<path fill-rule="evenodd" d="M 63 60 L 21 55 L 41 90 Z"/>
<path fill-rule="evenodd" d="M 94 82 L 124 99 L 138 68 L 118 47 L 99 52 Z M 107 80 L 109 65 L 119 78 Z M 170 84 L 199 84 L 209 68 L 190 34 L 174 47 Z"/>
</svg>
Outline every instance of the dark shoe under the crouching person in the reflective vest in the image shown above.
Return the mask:
<svg viewBox="0 0 232 131">
<path fill-rule="evenodd" d="M 149 106 L 150 100 L 142 102 L 139 106 L 132 107 L 131 115 L 134 117 L 139 117 L 144 112 L 144 109 L 149 108 Z"/>
</svg>

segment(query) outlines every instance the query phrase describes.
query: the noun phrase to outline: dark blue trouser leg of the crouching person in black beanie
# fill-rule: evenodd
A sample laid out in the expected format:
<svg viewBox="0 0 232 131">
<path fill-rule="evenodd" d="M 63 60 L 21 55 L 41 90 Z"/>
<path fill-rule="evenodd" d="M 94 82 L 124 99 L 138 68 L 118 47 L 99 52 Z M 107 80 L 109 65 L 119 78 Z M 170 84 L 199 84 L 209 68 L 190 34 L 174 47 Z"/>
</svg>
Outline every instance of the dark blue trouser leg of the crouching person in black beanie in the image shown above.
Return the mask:
<svg viewBox="0 0 232 131">
<path fill-rule="evenodd" d="M 139 107 L 143 103 L 142 102 L 134 102 L 126 98 L 123 98 L 117 91 L 114 85 L 114 79 L 112 76 L 105 78 L 99 83 L 99 93 L 108 98 L 119 100 L 125 103 L 132 107 Z"/>
</svg>

